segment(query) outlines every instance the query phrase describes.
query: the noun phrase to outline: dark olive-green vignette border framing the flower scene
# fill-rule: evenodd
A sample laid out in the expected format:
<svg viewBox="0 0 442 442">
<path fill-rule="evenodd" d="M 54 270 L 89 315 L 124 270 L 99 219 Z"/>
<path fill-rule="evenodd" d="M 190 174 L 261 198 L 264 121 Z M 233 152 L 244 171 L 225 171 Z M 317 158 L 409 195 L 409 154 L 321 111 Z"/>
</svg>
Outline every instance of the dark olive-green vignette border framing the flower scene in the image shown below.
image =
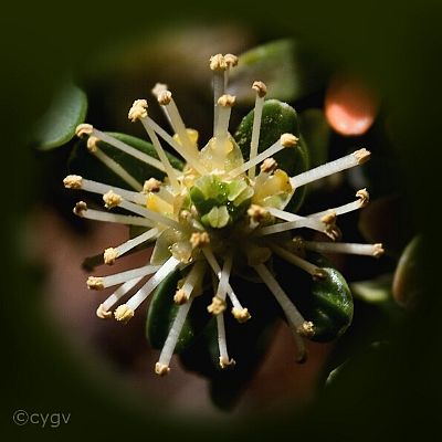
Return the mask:
<svg viewBox="0 0 442 442">
<path fill-rule="evenodd" d="M 2 7 L 2 376 L 1 434 L 14 440 L 244 440 L 359 441 L 441 439 L 440 339 L 440 70 L 436 2 L 281 2 L 242 4 L 125 2 L 117 8 L 59 2 Z M 287 3 L 287 2 L 286 2 Z M 240 9 L 239 9 L 240 8 Z M 168 22 L 246 23 L 264 35 L 296 34 L 329 61 L 366 73 L 385 97 L 400 146 L 413 222 L 425 233 L 424 302 L 388 352 L 359 359 L 339 389 L 305 415 L 251 415 L 212 425 L 161 418 L 87 370 L 53 333 L 39 303 L 42 275 L 20 256 L 20 229 L 35 203 L 35 158 L 28 147 L 32 123 L 44 112 L 59 78 L 86 70 L 94 54 Z M 407 223 L 409 220 L 402 220 Z M 54 244 L 56 246 L 56 244 Z M 143 407 L 141 407 L 143 406 Z M 151 407 L 146 413 L 145 408 Z M 17 409 L 71 412 L 57 429 L 15 427 Z M 186 438 L 188 439 L 188 438 Z M 9 440 L 9 439 L 8 439 Z"/>
</svg>

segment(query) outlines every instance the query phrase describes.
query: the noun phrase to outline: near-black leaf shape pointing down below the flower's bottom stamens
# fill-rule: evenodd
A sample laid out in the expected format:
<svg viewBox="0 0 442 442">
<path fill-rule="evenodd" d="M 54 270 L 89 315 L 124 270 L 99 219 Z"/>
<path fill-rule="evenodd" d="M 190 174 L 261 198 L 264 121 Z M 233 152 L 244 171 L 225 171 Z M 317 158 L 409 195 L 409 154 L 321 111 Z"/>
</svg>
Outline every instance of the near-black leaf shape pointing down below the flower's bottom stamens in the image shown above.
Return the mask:
<svg viewBox="0 0 442 442">
<path fill-rule="evenodd" d="M 210 380 L 210 394 L 221 409 L 231 409 L 240 399 L 256 372 L 275 330 L 277 305 L 264 284 L 251 283 L 239 277 L 231 281 L 241 303 L 252 317 L 240 324 L 229 313 L 224 314 L 229 356 L 235 366 L 221 369 L 217 319 L 212 318 L 204 333 L 180 355 L 185 368 Z M 295 356 L 293 358 L 295 364 Z"/>
</svg>

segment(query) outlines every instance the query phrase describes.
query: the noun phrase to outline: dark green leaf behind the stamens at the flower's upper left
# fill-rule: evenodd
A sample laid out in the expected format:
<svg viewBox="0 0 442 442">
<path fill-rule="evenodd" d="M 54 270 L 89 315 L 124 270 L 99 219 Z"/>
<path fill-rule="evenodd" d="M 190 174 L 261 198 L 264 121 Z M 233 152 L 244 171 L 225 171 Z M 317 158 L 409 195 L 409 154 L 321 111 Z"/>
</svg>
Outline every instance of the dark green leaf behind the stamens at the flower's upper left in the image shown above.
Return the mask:
<svg viewBox="0 0 442 442">
<path fill-rule="evenodd" d="M 145 141 L 126 134 L 119 133 L 107 133 L 108 135 L 135 147 L 136 149 L 158 159 L 158 155 L 155 151 L 154 146 Z M 165 173 L 157 168 L 146 165 L 137 158 L 131 157 L 128 154 L 108 145 L 107 143 L 98 141 L 98 147 L 124 167 L 137 181 L 141 185 L 149 178 L 156 178 L 162 180 Z M 182 169 L 183 162 L 171 154 L 167 152 L 167 157 L 170 164 L 176 169 Z M 74 150 L 70 159 L 70 171 L 71 173 L 78 173 L 87 179 L 108 183 L 109 186 L 117 186 L 122 188 L 128 188 L 128 185 L 109 170 L 102 161 L 95 156 L 91 155 L 86 148 L 86 141 L 81 139 L 76 143 Z"/>
</svg>

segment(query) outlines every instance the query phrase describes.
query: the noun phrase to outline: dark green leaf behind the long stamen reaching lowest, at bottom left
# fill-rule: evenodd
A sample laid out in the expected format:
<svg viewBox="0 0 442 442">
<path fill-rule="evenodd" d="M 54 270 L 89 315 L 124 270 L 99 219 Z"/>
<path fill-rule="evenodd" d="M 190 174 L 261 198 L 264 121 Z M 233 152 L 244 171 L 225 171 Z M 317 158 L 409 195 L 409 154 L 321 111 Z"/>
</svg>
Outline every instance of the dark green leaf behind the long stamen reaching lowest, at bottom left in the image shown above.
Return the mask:
<svg viewBox="0 0 442 442">
<path fill-rule="evenodd" d="M 146 336 L 154 348 L 162 348 L 177 316 L 179 305 L 173 302 L 173 296 L 182 276 L 183 274 L 180 271 L 175 271 L 158 285 L 152 295 L 147 314 Z M 208 304 L 208 299 L 204 299 L 203 296 L 194 298 L 178 338 L 175 352 L 181 352 L 186 349 L 202 332 L 211 317 L 207 312 Z"/>
</svg>

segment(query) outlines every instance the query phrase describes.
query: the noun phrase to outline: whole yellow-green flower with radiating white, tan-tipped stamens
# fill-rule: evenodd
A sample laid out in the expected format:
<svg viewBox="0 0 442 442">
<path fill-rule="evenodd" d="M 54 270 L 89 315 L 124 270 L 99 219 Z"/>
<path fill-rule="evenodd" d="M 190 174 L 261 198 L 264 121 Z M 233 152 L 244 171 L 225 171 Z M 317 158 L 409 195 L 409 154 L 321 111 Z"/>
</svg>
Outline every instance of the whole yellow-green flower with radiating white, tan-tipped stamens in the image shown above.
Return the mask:
<svg viewBox="0 0 442 442">
<path fill-rule="evenodd" d="M 234 365 L 228 351 L 224 315 L 231 313 L 240 323 L 253 320 L 251 313 L 241 304 L 241 296 L 235 294 L 229 282 L 233 273 L 241 275 L 241 266 L 244 265 L 254 270 L 281 305 L 293 330 L 299 359 L 304 359 L 303 337 L 315 335 L 315 324 L 303 317 L 284 292 L 269 267 L 271 257 L 278 255 L 311 274 L 313 278 L 320 280 L 326 274 L 320 266 L 306 259 L 307 251 L 372 256 L 379 256 L 383 252 L 381 244 L 306 241 L 284 233 L 307 228 L 327 235 L 333 241 L 338 240 L 340 231 L 336 225 L 337 217 L 366 206 L 369 199 L 366 189 L 359 190 L 352 202 L 308 217 L 284 209 L 296 189 L 332 173 L 359 166 L 369 159 L 370 152 L 359 149 L 323 166 L 293 177 L 288 176 L 278 168 L 273 157 L 283 149 L 294 149 L 299 139 L 294 134 L 283 134 L 272 146 L 259 152 L 266 86 L 262 82 L 255 82 L 252 85 L 255 106 L 250 154 L 244 158 L 229 133 L 235 97 L 227 93 L 227 86 L 229 72 L 236 63 L 238 57 L 231 54 L 217 54 L 210 59 L 214 94 L 213 137 L 202 149 L 198 148 L 198 133 L 186 127 L 172 93 L 166 85 L 157 84 L 152 93 L 175 135 L 170 136 L 149 116 L 146 99 L 134 102 L 128 118 L 143 124 L 158 159 L 92 125 L 82 124 L 76 129 L 78 137 L 87 137 L 90 152 L 134 190 L 116 188 L 78 175 L 70 175 L 64 179 L 66 188 L 102 194 L 107 209 L 90 209 L 81 201 L 74 208 L 76 215 L 145 228 L 141 234 L 120 245 L 106 249 L 103 255 L 106 264 L 112 265 L 141 243 L 156 241 L 154 254 L 147 265 L 109 276 L 88 277 L 87 286 L 91 290 L 99 291 L 119 285 L 98 306 L 98 317 L 110 318 L 114 306 L 143 280 L 150 276 L 126 303 L 114 309 L 115 319 L 126 323 L 165 278 L 177 270 L 183 271 L 185 277 L 178 284 L 173 297 L 175 303 L 179 305 L 178 313 L 155 367 L 155 371 L 160 376 L 170 370 L 171 356 L 192 302 L 202 292 L 206 274 L 211 273 L 218 280 L 212 302 L 207 309 L 217 317 L 221 368 Z M 185 158 L 186 166 L 182 170 L 172 166 L 160 138 Z M 146 176 L 145 182 L 138 182 L 130 175 L 130 170 L 123 168 L 99 148 L 99 140 L 159 169 L 166 173 L 166 178 L 159 181 Z M 259 173 L 256 166 L 260 166 Z M 125 213 L 114 213 L 110 211 L 113 208 L 124 209 Z"/>
</svg>

